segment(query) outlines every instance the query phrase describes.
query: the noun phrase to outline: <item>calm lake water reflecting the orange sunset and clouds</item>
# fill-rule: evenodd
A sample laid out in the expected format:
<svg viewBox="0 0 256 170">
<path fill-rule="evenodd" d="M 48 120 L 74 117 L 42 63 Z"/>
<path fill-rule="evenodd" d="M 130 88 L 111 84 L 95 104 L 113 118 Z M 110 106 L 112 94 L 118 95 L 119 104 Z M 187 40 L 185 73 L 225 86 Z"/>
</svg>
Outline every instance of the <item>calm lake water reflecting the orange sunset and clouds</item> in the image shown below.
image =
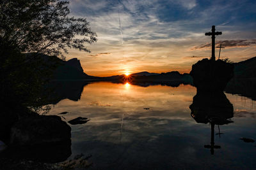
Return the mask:
<svg viewBox="0 0 256 170">
<path fill-rule="evenodd" d="M 256 169 L 256 143 L 240 139 L 256 138 L 255 101 L 226 94 L 234 117 L 219 126 L 221 134 L 214 126 L 211 153 L 211 125 L 197 123 L 189 109 L 195 95 L 191 85 L 89 83 L 78 101 L 62 99 L 48 115 L 90 118 L 70 125 L 69 158 L 92 155 L 90 169 Z"/>
</svg>

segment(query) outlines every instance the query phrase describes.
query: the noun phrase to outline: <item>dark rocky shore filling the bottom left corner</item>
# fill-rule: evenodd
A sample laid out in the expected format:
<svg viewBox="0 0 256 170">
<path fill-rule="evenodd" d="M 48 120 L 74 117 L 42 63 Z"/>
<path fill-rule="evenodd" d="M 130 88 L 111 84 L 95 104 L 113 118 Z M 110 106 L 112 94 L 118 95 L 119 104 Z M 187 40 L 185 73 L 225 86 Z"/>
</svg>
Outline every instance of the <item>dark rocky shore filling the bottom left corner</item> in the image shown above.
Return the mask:
<svg viewBox="0 0 256 170">
<path fill-rule="evenodd" d="M 4 146 L 0 151 L 0 167 L 23 164 L 24 168 L 28 166 L 25 169 L 33 165 L 36 169 L 44 167 L 44 163 L 62 162 L 70 157 L 71 127 L 60 117 L 38 115 L 25 108 L 6 109 L 0 117 L 0 141 Z"/>
</svg>

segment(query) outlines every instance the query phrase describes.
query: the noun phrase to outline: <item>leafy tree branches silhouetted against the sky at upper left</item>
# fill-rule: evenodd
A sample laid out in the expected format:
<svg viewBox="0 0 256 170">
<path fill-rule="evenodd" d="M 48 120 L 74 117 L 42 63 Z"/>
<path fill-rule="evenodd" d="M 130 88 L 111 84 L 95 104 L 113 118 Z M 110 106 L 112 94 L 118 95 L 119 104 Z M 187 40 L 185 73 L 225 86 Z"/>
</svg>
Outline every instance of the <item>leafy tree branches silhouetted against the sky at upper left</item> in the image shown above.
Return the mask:
<svg viewBox="0 0 256 170">
<path fill-rule="evenodd" d="M 1 55 L 8 53 L 6 46 L 61 57 L 68 48 L 90 52 L 84 43 L 94 43 L 97 35 L 86 18 L 69 17 L 68 4 L 61 0 L 1 0 Z"/>
</svg>

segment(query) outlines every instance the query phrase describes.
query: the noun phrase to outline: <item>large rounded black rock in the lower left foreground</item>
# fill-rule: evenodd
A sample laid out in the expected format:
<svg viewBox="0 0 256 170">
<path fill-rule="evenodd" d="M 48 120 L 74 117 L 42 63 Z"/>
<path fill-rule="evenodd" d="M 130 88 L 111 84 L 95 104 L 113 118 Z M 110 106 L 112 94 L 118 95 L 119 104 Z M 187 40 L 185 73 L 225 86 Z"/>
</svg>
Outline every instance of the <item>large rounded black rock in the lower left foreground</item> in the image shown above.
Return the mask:
<svg viewBox="0 0 256 170">
<path fill-rule="evenodd" d="M 10 145 L 0 153 L 0 162 L 65 161 L 71 155 L 70 138 L 70 126 L 58 116 L 20 118 L 10 130 Z"/>
</svg>

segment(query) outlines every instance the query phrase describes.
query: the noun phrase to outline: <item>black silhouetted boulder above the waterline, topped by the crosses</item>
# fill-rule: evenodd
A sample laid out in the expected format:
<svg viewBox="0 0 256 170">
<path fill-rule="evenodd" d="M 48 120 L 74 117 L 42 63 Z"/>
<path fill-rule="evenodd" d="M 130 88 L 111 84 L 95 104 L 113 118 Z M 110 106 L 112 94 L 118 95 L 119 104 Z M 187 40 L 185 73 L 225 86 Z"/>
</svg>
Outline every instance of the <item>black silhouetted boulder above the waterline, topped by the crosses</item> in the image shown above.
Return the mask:
<svg viewBox="0 0 256 170">
<path fill-rule="evenodd" d="M 234 65 L 223 60 L 203 59 L 193 64 L 189 74 L 198 91 L 221 92 L 234 75 Z"/>
</svg>

